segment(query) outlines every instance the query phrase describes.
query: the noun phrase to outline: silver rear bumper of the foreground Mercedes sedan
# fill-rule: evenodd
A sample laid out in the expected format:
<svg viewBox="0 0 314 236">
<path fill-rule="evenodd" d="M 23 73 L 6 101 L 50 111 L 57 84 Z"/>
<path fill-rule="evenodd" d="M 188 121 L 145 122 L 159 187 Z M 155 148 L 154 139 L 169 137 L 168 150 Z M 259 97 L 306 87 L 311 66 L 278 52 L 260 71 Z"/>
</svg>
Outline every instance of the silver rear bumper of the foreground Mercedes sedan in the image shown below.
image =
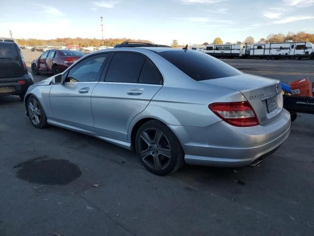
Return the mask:
<svg viewBox="0 0 314 236">
<path fill-rule="evenodd" d="M 208 127 L 169 127 L 179 138 L 185 162 L 192 165 L 242 167 L 278 148 L 290 133 L 290 114 L 266 125 L 235 127 L 220 121 Z"/>
</svg>

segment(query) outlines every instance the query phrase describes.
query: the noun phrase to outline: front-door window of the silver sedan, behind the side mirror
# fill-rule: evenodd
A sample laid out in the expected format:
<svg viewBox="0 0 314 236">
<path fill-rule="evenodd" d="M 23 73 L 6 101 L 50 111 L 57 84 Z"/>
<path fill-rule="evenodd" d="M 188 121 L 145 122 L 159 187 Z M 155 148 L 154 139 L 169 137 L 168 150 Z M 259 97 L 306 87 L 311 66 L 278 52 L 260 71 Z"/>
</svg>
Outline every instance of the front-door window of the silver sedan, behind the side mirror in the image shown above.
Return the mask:
<svg viewBox="0 0 314 236">
<path fill-rule="evenodd" d="M 102 74 L 102 65 L 108 54 L 86 58 L 70 69 L 65 82 L 97 82 Z"/>
</svg>

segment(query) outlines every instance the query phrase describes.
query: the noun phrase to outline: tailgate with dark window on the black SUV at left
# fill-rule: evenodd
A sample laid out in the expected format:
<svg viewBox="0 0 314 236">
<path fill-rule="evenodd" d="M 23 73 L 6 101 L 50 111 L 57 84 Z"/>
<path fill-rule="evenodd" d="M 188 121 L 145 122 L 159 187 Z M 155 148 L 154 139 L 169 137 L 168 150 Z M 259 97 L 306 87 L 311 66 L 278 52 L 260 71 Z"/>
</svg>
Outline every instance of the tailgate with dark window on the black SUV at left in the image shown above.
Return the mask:
<svg viewBox="0 0 314 236">
<path fill-rule="evenodd" d="M 22 77 L 24 69 L 13 43 L 0 43 L 0 79 Z"/>
</svg>

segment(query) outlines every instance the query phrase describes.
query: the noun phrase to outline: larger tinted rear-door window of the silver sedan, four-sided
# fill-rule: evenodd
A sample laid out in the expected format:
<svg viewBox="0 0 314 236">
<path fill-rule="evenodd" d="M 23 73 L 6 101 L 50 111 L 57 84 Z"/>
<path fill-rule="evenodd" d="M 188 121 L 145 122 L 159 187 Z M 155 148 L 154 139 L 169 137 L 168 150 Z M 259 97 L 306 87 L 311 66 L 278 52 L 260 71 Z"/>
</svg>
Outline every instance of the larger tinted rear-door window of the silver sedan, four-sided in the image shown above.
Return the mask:
<svg viewBox="0 0 314 236">
<path fill-rule="evenodd" d="M 133 53 L 115 53 L 105 82 L 137 83 L 145 58 Z"/>
</svg>

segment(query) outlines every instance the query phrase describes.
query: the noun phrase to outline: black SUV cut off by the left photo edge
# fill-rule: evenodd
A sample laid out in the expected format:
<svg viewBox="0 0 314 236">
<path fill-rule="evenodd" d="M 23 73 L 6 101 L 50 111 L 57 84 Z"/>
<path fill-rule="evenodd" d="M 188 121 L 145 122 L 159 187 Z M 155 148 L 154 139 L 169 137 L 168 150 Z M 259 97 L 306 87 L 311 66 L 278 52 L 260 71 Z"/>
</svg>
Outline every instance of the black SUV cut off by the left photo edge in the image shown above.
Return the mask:
<svg viewBox="0 0 314 236">
<path fill-rule="evenodd" d="M 19 95 L 23 100 L 33 77 L 16 43 L 0 42 L 0 96 Z"/>
</svg>

